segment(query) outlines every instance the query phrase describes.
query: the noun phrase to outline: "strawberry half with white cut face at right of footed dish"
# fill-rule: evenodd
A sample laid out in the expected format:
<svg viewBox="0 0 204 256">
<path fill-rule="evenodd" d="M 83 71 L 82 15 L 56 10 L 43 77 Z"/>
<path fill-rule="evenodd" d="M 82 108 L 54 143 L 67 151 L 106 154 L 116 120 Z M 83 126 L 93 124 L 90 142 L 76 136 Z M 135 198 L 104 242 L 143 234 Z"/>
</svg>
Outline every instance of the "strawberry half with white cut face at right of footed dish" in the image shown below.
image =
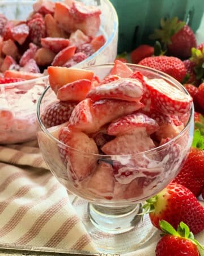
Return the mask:
<svg viewBox="0 0 204 256">
<path fill-rule="evenodd" d="M 163 79 L 146 79 L 152 106 L 165 114 L 185 114 L 192 106 L 192 97 Z"/>
</svg>

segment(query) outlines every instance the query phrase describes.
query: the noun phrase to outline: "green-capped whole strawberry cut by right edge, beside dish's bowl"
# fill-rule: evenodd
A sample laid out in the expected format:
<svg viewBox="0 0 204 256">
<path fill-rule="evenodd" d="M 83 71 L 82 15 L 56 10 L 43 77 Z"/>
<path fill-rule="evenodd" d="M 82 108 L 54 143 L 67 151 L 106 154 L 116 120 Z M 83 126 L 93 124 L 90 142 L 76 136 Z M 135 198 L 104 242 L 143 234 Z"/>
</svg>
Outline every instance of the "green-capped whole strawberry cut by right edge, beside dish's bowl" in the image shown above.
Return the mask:
<svg viewBox="0 0 204 256">
<path fill-rule="evenodd" d="M 204 188 L 204 147 L 202 145 L 204 137 L 199 130 L 194 133 L 192 148 L 188 158 L 179 174 L 173 182 L 184 185 L 190 189 L 195 196 L 199 196 Z"/>
</svg>

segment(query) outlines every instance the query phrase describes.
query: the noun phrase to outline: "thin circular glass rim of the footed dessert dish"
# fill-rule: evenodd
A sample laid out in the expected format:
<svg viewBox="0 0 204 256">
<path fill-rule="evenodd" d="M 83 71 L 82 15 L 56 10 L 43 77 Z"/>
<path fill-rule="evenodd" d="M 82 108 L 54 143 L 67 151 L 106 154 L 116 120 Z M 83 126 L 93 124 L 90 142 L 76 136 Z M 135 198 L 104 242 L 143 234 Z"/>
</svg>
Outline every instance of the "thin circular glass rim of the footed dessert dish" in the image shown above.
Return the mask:
<svg viewBox="0 0 204 256">
<path fill-rule="evenodd" d="M 100 64 L 100 65 L 92 65 L 83 69 L 91 69 L 91 68 L 100 68 L 100 67 L 112 67 L 114 65 L 114 63 L 108 63 L 108 64 Z M 128 65 L 128 67 L 136 67 L 136 68 L 141 68 L 144 71 L 151 71 L 153 73 L 157 73 L 158 75 L 162 76 L 161 78 L 165 77 L 165 79 L 170 80 L 171 82 L 177 84 L 177 86 L 179 86 L 180 89 L 183 90 L 183 92 L 185 92 L 187 95 L 190 96 L 190 94 L 188 93 L 188 91 L 184 88 L 184 86 L 182 86 L 182 84 L 177 81 L 176 79 L 174 79 L 173 77 L 167 75 L 166 73 L 162 72 L 162 71 L 158 71 L 156 69 L 153 68 L 149 68 L 149 67 L 145 67 L 142 65 L 138 65 L 138 64 L 131 64 L 131 63 L 127 63 L 126 65 Z M 135 153 L 135 154 L 124 154 L 124 155 L 103 155 L 103 154 L 94 154 L 94 153 L 86 153 L 84 151 L 80 151 L 76 148 L 70 147 L 68 145 L 66 145 L 65 143 L 59 141 L 57 138 L 55 138 L 52 134 L 49 133 L 48 129 L 44 126 L 44 124 L 41 121 L 40 118 L 40 106 L 41 106 L 41 102 L 42 102 L 42 98 L 44 98 L 46 92 L 50 89 L 50 86 L 47 86 L 47 88 L 44 90 L 44 92 L 41 94 L 39 101 L 37 102 L 37 123 L 40 126 L 40 129 L 42 130 L 42 132 L 47 135 L 50 139 L 52 139 L 52 141 L 56 142 L 58 145 L 61 145 L 63 148 L 69 148 L 69 150 L 73 150 L 78 152 L 79 154 L 83 154 L 83 155 L 87 155 L 87 156 L 97 156 L 100 158 L 117 158 L 117 157 L 122 157 L 122 158 L 132 158 L 133 156 L 140 156 L 143 154 L 151 154 L 154 151 L 162 151 L 164 148 L 171 146 L 172 143 L 174 143 L 175 141 L 177 141 L 179 138 L 182 137 L 183 134 L 185 134 L 186 130 L 189 128 L 189 126 L 191 125 L 192 119 L 194 117 L 194 105 L 193 102 L 191 104 L 191 108 L 190 108 L 190 115 L 189 115 L 189 119 L 188 122 L 186 123 L 184 129 L 182 129 L 180 131 L 179 134 L 177 134 L 175 137 L 173 137 L 172 139 L 170 139 L 170 141 L 155 147 L 155 148 L 151 148 L 150 150 L 146 150 L 146 151 L 142 151 L 139 153 Z M 54 126 L 53 126 L 54 127 Z M 51 127 L 50 127 L 51 128 Z"/>
</svg>

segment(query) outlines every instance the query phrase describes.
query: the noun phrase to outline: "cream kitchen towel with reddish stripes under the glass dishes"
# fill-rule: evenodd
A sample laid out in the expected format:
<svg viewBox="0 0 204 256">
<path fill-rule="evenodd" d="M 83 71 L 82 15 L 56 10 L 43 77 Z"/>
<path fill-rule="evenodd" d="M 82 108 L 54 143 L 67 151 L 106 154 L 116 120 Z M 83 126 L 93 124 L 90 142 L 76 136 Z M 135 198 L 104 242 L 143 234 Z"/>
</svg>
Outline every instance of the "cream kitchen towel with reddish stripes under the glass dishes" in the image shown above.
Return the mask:
<svg viewBox="0 0 204 256">
<path fill-rule="evenodd" d="M 0 146 L 0 247 L 10 244 L 97 253 L 85 228 L 87 223 L 84 200 L 68 194 L 58 183 L 36 141 Z M 99 232 L 95 241 L 108 243 L 113 236 Z M 116 235 L 115 241 L 118 246 L 125 242 L 128 250 L 129 236 L 131 232 Z M 204 243 L 204 232 L 196 238 Z M 154 256 L 158 240 L 156 233 L 137 252 L 124 255 Z"/>
</svg>

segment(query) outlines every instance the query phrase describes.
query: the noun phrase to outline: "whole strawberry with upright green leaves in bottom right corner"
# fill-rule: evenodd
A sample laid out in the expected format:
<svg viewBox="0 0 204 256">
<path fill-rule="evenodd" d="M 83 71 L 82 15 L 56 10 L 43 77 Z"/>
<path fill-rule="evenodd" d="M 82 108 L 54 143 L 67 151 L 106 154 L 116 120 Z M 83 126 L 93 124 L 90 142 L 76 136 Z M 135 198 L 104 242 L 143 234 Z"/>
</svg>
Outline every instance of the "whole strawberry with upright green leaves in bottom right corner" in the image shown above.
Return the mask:
<svg viewBox="0 0 204 256">
<path fill-rule="evenodd" d="M 184 222 L 180 222 L 177 230 L 164 220 L 159 225 L 163 234 L 156 245 L 156 256 L 199 256 L 204 252 L 203 246 L 194 239 L 193 233 Z"/>
</svg>

